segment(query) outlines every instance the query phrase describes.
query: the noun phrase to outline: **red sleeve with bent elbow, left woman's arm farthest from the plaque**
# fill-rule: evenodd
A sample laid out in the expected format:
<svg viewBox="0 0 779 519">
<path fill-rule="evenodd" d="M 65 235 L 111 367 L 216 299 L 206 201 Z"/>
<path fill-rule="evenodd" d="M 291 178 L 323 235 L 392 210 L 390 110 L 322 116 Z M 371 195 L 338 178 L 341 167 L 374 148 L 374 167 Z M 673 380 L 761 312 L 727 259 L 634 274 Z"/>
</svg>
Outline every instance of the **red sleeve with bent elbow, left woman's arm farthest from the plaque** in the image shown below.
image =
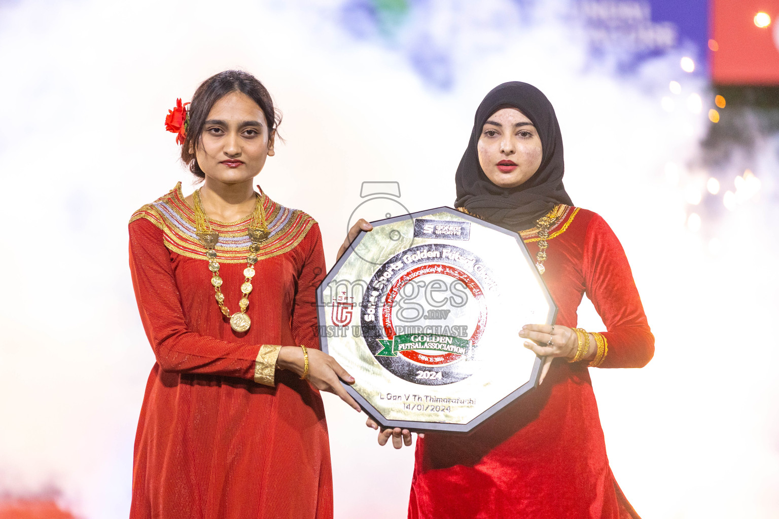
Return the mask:
<svg viewBox="0 0 779 519">
<path fill-rule="evenodd" d="M 129 234 L 132 285 L 160 368 L 254 380 L 259 345 L 226 342 L 187 329 L 162 230 L 142 218 L 130 223 Z"/>
</svg>

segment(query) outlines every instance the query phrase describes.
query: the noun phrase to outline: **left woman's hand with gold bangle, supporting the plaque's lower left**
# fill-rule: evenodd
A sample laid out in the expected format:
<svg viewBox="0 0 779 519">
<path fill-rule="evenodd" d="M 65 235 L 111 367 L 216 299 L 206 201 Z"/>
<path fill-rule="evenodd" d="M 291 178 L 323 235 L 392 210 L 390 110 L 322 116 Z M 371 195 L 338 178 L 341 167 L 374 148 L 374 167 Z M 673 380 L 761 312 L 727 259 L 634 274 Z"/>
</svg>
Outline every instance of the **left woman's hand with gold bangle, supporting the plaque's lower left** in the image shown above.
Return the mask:
<svg viewBox="0 0 779 519">
<path fill-rule="evenodd" d="M 327 391 L 338 395 L 341 400 L 351 405 L 357 412 L 360 412 L 360 405 L 354 402 L 354 398 L 347 393 L 338 379 L 344 380 L 347 384 L 354 384 L 354 377 L 344 370 L 330 355 L 320 352 L 318 349 L 307 348 L 308 352 L 308 377 L 306 380 L 319 391 Z M 279 350 L 279 356 L 276 365 L 282 370 L 290 370 L 303 374 L 305 369 L 305 356 L 303 349 L 299 346 L 282 346 Z"/>
</svg>

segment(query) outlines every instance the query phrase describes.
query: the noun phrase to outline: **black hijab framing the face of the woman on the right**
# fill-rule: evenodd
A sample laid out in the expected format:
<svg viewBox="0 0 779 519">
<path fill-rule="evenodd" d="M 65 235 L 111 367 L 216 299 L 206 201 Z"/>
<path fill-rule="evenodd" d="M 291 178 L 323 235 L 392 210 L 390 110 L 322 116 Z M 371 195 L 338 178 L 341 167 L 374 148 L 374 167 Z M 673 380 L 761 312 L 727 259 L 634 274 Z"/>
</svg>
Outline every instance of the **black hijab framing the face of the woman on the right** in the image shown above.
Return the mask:
<svg viewBox="0 0 779 519">
<path fill-rule="evenodd" d="M 541 166 L 516 188 L 492 184 L 479 165 L 477 144 L 481 128 L 500 108 L 515 107 L 525 114 L 541 138 Z M 541 90 L 527 83 L 512 81 L 490 90 L 476 110 L 471 140 L 457 167 L 455 207 L 488 222 L 520 232 L 535 226 L 535 221 L 557 204 L 573 205 L 562 186 L 562 136 L 555 109 Z"/>
</svg>

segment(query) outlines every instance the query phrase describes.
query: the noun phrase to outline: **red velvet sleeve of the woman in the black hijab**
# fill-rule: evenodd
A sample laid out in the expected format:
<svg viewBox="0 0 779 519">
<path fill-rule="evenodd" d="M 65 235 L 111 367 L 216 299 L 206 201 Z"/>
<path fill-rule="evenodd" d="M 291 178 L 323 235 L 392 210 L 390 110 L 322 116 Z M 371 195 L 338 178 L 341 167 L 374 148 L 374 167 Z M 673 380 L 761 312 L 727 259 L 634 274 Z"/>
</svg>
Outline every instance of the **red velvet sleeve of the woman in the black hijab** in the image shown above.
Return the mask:
<svg viewBox="0 0 779 519">
<path fill-rule="evenodd" d="M 654 335 L 643 312 L 628 258 L 614 231 L 594 215 L 584 242 L 587 296 L 606 325 L 608 354 L 599 367 L 643 367 L 654 355 Z"/>
</svg>

